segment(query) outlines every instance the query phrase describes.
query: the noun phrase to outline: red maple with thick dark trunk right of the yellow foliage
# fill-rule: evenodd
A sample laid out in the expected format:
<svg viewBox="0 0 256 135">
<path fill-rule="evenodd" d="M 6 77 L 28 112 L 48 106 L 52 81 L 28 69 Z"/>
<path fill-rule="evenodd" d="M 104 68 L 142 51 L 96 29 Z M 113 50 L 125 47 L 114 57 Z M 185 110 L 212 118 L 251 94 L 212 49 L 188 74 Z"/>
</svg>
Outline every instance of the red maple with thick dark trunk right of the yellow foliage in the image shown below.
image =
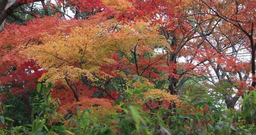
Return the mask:
<svg viewBox="0 0 256 135">
<path fill-rule="evenodd" d="M 188 79 L 188 74 L 195 68 L 200 68 L 207 59 L 211 59 L 207 53 L 215 53 L 209 50 L 206 40 L 196 34 L 204 33 L 211 35 L 215 29 L 215 21 L 212 19 L 203 20 L 204 15 L 194 16 L 189 12 L 194 9 L 188 8 L 192 5 L 189 1 L 168 1 L 168 0 L 147 0 L 133 1 L 136 3 L 136 11 L 131 16 L 138 16 L 144 20 L 152 21 L 153 25 L 160 25 L 160 32 L 169 42 L 166 50 L 168 55 L 169 87 L 171 94 L 178 94 L 179 89 Z M 147 16 L 144 17 L 144 16 Z M 193 17 L 193 18 L 192 18 Z M 200 17 L 200 19 L 199 19 Z M 207 26 L 208 23 L 208 26 Z M 206 29 L 201 27 L 206 25 Z M 207 50 L 204 51 L 204 48 Z M 166 49 L 166 48 L 163 48 Z M 201 53 L 191 54 L 189 51 Z M 180 62 L 179 58 L 187 57 L 187 62 Z M 199 70 L 204 70 L 203 67 Z M 180 72 L 181 71 L 181 72 Z M 195 74 L 192 73 L 192 74 Z M 197 73 L 198 74 L 198 73 Z"/>
</svg>

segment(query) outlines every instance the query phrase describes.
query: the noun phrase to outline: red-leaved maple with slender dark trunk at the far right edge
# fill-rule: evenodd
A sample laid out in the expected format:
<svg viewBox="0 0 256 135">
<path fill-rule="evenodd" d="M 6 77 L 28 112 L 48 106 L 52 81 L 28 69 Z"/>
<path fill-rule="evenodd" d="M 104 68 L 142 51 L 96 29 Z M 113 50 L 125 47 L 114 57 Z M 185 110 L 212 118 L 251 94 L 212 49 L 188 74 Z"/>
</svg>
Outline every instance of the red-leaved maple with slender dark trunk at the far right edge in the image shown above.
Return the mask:
<svg viewBox="0 0 256 135">
<path fill-rule="evenodd" d="M 242 40 L 244 41 L 244 48 L 250 49 L 249 51 L 251 52 L 251 72 L 252 72 L 252 87 L 255 87 L 256 83 L 254 81 L 254 75 L 255 75 L 255 47 L 254 47 L 254 20 L 253 17 L 255 16 L 254 12 L 254 1 L 248 1 L 248 0 L 242 0 L 242 1 L 226 1 L 223 3 L 218 3 L 218 2 L 208 2 L 208 1 L 203 1 L 200 0 L 204 4 L 206 8 L 212 9 L 213 13 L 208 13 L 212 16 L 218 17 L 221 20 L 223 20 L 223 25 L 226 26 L 226 30 L 222 32 L 223 35 L 228 35 L 227 32 L 230 32 L 230 28 L 232 30 L 235 30 L 239 35 L 235 36 L 241 36 L 244 35 L 247 37 L 247 39 L 243 38 Z M 211 5 L 211 6 L 210 6 Z M 228 5 L 229 8 L 227 9 L 222 9 L 216 8 L 214 10 L 211 7 L 217 6 L 217 5 Z M 252 12 L 248 12 L 252 11 Z M 231 24 L 233 27 L 228 27 L 228 24 Z M 231 44 L 233 44 L 233 48 L 236 48 L 236 42 L 230 40 L 229 41 Z"/>
</svg>

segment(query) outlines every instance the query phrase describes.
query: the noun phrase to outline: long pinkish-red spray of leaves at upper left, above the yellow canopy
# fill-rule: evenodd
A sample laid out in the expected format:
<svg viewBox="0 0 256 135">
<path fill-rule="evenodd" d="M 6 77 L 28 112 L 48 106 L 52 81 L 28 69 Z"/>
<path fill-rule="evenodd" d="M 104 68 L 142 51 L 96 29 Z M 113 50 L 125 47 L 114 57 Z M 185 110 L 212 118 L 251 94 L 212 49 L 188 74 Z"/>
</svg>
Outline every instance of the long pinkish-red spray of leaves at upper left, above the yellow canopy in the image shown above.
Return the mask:
<svg viewBox="0 0 256 135">
<path fill-rule="evenodd" d="M 40 40 L 44 35 L 53 35 L 55 33 L 68 33 L 72 28 L 84 26 L 92 20 L 61 20 L 56 16 L 44 16 L 28 21 L 25 25 L 6 24 L 6 28 L 1 32 L 0 44 L 18 45 L 28 44 L 31 40 Z"/>
</svg>

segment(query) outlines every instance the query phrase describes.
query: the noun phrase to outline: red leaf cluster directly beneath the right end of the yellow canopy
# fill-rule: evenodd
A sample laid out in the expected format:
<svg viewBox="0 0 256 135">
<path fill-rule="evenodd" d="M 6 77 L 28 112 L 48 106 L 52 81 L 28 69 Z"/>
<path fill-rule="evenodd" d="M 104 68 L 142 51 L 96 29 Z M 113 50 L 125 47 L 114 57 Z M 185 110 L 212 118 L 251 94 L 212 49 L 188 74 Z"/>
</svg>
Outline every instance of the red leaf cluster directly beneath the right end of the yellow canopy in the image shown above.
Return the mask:
<svg viewBox="0 0 256 135">
<path fill-rule="evenodd" d="M 165 70 L 165 56 L 157 55 L 155 57 L 144 57 L 146 53 L 148 52 L 145 50 L 139 52 L 139 55 L 136 56 L 137 63 L 135 63 L 132 59 L 120 57 L 119 54 L 113 54 L 111 58 L 112 60 L 115 60 L 115 63 L 104 64 L 100 70 L 112 76 L 116 76 L 116 72 L 113 71 L 129 71 L 129 74 L 138 75 L 138 73 L 140 73 L 140 76 L 148 78 L 151 81 L 159 79 L 160 76 L 157 71 Z"/>
</svg>

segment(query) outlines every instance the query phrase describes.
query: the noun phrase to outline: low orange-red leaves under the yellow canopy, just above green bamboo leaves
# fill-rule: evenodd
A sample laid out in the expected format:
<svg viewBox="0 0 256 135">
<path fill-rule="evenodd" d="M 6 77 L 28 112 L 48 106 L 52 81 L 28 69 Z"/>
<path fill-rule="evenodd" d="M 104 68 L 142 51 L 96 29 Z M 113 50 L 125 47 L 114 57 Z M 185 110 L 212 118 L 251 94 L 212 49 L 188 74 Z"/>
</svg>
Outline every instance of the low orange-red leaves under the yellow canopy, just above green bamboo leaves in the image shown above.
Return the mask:
<svg viewBox="0 0 256 135">
<path fill-rule="evenodd" d="M 71 91 L 66 85 L 63 85 L 61 82 L 57 82 L 53 86 L 52 90 L 52 98 L 57 99 L 60 102 L 60 110 L 59 112 L 63 115 L 69 113 L 76 113 L 77 107 L 89 108 L 93 106 L 102 106 L 102 107 L 112 107 L 112 103 L 114 102 L 108 96 L 104 98 L 93 98 L 93 94 L 97 92 L 96 87 L 89 87 L 83 85 L 81 82 L 76 82 L 76 86 L 78 89 L 79 95 L 79 102 L 76 102 L 76 99 Z M 119 95 L 116 91 L 108 91 L 108 94 L 111 95 L 113 98 L 117 99 Z"/>
</svg>

